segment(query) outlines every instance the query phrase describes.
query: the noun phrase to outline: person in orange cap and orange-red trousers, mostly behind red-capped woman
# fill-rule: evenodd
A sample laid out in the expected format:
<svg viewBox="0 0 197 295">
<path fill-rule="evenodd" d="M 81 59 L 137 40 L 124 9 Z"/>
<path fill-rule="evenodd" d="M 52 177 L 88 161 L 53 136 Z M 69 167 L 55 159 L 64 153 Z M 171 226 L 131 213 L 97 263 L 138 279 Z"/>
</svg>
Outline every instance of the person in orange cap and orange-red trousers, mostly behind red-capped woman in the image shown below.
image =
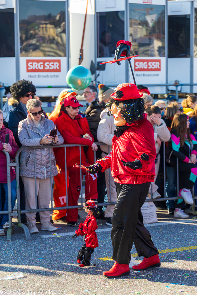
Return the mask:
<svg viewBox="0 0 197 295">
<path fill-rule="evenodd" d="M 62 104 L 64 104 L 64 100 L 67 97 L 76 97 L 76 92 L 73 92 L 71 89 L 64 89 L 60 92 L 58 96 L 58 103 L 56 104 L 53 112 L 49 116 L 49 119 L 53 122 L 59 116 L 60 109 Z M 62 173 L 61 168 L 57 165 L 58 175 L 54 176 L 54 188 L 53 188 L 53 199 L 55 206 L 54 207 L 65 207 L 66 206 L 66 180 L 65 173 Z M 67 183 L 69 184 L 69 171 L 67 170 Z M 56 220 L 58 222 L 66 221 L 66 209 L 64 210 L 53 210 L 52 220 Z"/>
</svg>

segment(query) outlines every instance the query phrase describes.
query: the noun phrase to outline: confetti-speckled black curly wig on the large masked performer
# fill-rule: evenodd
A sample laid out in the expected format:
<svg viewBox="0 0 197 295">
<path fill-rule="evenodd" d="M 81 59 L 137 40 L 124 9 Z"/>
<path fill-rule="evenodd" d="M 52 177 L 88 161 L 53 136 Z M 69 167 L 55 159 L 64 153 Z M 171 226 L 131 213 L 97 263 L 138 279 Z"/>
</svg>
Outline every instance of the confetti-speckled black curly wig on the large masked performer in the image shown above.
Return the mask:
<svg viewBox="0 0 197 295">
<path fill-rule="evenodd" d="M 131 124 L 138 121 L 139 119 L 143 119 L 145 108 L 144 100 L 141 97 L 137 99 L 129 99 L 123 101 L 111 98 L 110 101 L 106 104 L 105 108 L 108 116 L 112 116 L 110 112 L 112 104 L 118 106 L 120 102 L 124 104 L 124 107 L 121 109 L 120 113 L 122 115 L 122 118 L 126 120 L 127 124 Z"/>
</svg>

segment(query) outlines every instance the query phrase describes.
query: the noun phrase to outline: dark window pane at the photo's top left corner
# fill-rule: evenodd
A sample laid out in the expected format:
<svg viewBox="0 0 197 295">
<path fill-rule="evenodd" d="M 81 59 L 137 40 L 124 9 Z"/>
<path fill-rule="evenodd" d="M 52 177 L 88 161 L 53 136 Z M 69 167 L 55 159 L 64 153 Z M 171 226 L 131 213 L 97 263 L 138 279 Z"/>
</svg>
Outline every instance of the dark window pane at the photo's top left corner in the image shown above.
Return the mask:
<svg viewBox="0 0 197 295">
<path fill-rule="evenodd" d="M 15 56 L 14 9 L 0 9 L 0 57 Z"/>
</svg>

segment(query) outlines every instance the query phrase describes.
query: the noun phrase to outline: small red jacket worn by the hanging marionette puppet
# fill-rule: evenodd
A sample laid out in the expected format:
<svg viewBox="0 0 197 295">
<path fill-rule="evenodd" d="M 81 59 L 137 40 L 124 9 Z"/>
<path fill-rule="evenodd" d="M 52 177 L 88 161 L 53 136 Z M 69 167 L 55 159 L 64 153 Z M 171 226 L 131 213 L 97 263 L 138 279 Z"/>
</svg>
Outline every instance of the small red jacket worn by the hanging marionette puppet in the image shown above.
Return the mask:
<svg viewBox="0 0 197 295">
<path fill-rule="evenodd" d="M 79 230 L 76 230 L 75 233 L 81 236 L 86 235 L 86 247 L 95 249 L 98 247 L 97 234 L 95 233 L 95 230 L 97 230 L 97 228 L 98 227 L 96 218 L 88 214 L 86 220 L 84 221 L 84 224 L 80 223 Z"/>
</svg>

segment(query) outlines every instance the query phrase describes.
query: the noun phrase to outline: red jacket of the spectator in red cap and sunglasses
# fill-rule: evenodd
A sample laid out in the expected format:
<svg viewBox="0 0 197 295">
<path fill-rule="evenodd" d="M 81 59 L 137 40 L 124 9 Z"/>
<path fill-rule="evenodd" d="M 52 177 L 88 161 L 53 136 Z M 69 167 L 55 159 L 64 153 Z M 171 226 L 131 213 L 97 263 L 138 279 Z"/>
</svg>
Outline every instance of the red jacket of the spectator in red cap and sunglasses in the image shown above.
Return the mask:
<svg viewBox="0 0 197 295">
<path fill-rule="evenodd" d="M 61 136 L 64 138 L 64 144 L 73 143 L 87 145 L 88 150 L 86 153 L 84 153 L 84 149 L 81 148 L 82 164 L 86 165 L 86 159 L 88 163 L 94 164 L 94 152 L 91 148 L 94 142 L 94 138 L 89 130 L 89 125 L 87 119 L 85 118 L 85 115 L 79 112 L 75 119 L 71 119 L 69 115 L 61 112 L 61 116 L 54 121 L 54 124 L 57 125 L 57 129 L 59 130 Z M 83 135 L 85 135 L 85 133 L 88 133 L 92 137 L 92 140 L 83 138 Z M 57 165 L 61 168 L 61 170 L 65 171 L 64 148 L 55 148 L 54 154 L 56 157 Z M 71 168 L 76 163 L 80 164 L 79 147 L 66 148 L 67 169 Z"/>
</svg>

